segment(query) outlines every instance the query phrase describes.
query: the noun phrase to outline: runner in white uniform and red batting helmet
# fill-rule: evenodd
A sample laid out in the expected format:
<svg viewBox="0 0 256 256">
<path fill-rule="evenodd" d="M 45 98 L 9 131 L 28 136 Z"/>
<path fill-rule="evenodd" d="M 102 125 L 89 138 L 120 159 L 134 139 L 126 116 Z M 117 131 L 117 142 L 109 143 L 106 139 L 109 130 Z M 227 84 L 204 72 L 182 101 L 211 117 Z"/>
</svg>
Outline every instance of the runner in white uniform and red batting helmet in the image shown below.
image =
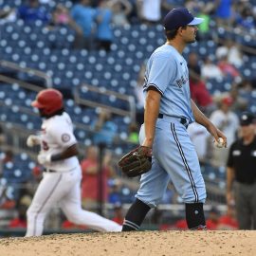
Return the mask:
<svg viewBox="0 0 256 256">
<path fill-rule="evenodd" d="M 45 173 L 27 210 L 26 236 L 42 235 L 46 215 L 57 204 L 75 224 L 99 231 L 120 231 L 117 223 L 82 210 L 77 140 L 72 121 L 64 112 L 62 93 L 55 89 L 42 90 L 32 106 L 39 109 L 43 123 L 40 135 L 27 137 L 27 146 L 41 145 L 37 158 Z"/>
</svg>

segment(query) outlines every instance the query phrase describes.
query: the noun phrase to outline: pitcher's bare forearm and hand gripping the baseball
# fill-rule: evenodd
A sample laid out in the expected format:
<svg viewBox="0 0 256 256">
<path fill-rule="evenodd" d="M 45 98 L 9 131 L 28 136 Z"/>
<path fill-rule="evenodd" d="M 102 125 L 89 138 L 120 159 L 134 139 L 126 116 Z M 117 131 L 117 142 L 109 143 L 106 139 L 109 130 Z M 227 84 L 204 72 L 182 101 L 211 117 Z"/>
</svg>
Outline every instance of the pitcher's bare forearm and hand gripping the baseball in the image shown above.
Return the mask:
<svg viewBox="0 0 256 256">
<path fill-rule="evenodd" d="M 194 119 L 196 122 L 202 124 L 207 128 L 210 135 L 215 138 L 215 140 L 218 141 L 219 137 L 223 138 L 223 143 L 225 147 L 227 147 L 227 137 L 208 119 L 201 110 L 196 106 L 194 101 L 192 101 L 192 114 L 194 116 Z"/>
</svg>

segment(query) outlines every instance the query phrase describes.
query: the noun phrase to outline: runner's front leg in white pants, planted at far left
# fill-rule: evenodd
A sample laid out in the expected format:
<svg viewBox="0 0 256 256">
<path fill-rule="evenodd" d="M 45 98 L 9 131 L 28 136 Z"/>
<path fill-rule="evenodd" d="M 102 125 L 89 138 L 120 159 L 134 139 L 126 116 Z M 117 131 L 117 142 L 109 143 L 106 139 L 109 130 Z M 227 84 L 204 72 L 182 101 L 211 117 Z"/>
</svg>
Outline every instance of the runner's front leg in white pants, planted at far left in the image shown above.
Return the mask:
<svg viewBox="0 0 256 256">
<path fill-rule="evenodd" d="M 44 174 L 27 210 L 26 236 L 42 235 L 46 214 L 56 205 L 63 188 L 62 174 Z"/>
</svg>

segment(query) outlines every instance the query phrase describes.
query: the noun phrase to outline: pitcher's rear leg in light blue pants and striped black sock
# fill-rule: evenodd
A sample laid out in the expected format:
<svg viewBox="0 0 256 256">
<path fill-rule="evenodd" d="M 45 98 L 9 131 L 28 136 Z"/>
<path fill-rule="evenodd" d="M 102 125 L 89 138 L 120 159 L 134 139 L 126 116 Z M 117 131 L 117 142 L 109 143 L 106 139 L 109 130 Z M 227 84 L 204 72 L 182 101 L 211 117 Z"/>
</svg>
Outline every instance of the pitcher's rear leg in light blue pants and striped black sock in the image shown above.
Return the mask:
<svg viewBox="0 0 256 256">
<path fill-rule="evenodd" d="M 169 180 L 169 175 L 153 158 L 151 171 L 141 175 L 140 187 L 136 195 L 137 200 L 126 213 L 122 231 L 132 231 L 140 228 L 148 211 L 156 207 L 162 199 Z"/>
</svg>

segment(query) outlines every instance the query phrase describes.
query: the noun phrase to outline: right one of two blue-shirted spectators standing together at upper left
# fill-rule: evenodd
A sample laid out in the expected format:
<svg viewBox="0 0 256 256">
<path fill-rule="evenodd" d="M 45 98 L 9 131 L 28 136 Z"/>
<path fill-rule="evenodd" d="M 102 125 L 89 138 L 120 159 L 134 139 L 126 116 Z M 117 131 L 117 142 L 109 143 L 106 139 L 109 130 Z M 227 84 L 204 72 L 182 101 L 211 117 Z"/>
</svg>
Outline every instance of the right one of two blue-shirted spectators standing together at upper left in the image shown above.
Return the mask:
<svg viewBox="0 0 256 256">
<path fill-rule="evenodd" d="M 96 40 L 98 49 L 110 51 L 110 46 L 113 41 L 112 31 L 113 12 L 109 1 L 101 1 L 97 9 L 97 31 Z"/>
</svg>

